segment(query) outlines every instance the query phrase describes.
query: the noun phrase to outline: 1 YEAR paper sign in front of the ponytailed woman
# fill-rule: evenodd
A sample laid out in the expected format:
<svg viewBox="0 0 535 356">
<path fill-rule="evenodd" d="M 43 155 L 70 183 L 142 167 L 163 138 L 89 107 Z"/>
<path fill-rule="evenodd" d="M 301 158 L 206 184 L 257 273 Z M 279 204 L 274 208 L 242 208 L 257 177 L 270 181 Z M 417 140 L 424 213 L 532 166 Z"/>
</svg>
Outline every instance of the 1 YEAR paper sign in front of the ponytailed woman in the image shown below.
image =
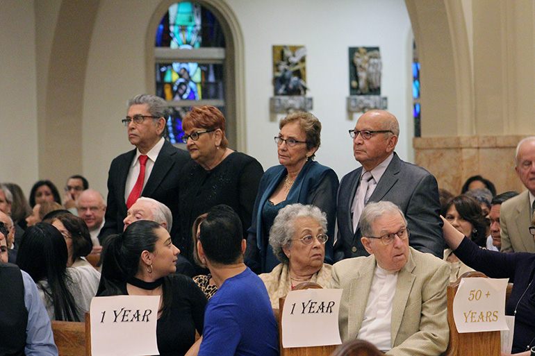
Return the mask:
<svg viewBox="0 0 535 356">
<path fill-rule="evenodd" d="M 156 344 L 159 296 L 91 300 L 91 355 L 160 355 Z"/>
</svg>

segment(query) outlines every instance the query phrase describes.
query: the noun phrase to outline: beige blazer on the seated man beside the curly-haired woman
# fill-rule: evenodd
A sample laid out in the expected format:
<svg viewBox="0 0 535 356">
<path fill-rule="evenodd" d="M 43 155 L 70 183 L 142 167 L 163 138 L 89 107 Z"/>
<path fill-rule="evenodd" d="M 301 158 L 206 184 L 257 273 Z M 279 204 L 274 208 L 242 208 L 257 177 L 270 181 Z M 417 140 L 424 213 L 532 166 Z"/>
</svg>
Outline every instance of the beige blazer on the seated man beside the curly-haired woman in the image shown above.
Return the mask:
<svg viewBox="0 0 535 356">
<path fill-rule="evenodd" d="M 387 355 L 441 355 L 447 348 L 447 263 L 410 248 L 397 276 Z M 342 341 L 356 339 L 364 318 L 375 271 L 375 256 L 342 260 L 333 266 L 330 288 L 344 289 L 338 324 Z"/>
</svg>

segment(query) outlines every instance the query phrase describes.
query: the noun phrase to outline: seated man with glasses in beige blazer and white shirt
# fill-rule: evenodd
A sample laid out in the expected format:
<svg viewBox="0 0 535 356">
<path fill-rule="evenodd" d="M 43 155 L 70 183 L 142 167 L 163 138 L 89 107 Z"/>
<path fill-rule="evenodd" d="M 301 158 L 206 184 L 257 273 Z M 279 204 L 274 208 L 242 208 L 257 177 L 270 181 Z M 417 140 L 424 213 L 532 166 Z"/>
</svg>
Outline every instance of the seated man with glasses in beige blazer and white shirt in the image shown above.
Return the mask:
<svg viewBox="0 0 535 356">
<path fill-rule="evenodd" d="M 343 289 L 340 338 L 370 341 L 387 355 L 441 355 L 449 337 L 450 267 L 409 247 L 410 223 L 389 201 L 366 205 L 360 223 L 370 256 L 334 264 L 329 282 Z"/>
</svg>

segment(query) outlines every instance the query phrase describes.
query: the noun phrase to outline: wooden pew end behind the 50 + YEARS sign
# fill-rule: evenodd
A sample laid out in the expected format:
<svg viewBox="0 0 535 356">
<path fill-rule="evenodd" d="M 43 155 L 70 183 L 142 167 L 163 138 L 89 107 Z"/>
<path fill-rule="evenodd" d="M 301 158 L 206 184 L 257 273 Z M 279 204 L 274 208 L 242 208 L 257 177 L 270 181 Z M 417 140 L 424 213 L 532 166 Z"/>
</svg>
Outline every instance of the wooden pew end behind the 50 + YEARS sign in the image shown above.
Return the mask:
<svg viewBox="0 0 535 356">
<path fill-rule="evenodd" d="M 444 356 L 500 356 L 501 339 L 499 331 L 466 332 L 460 334 L 453 319 L 453 300 L 461 278 L 484 277 L 481 272 L 466 272 L 447 287 L 447 323 L 450 325 L 450 343 Z"/>
</svg>

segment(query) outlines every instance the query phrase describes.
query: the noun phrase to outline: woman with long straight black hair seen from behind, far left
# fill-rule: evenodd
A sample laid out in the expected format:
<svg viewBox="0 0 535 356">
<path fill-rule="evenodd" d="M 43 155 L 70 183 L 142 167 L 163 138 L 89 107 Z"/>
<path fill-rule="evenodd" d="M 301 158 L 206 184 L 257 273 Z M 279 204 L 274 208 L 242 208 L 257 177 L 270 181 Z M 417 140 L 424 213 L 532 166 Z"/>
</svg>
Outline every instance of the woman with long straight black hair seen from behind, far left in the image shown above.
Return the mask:
<svg viewBox="0 0 535 356">
<path fill-rule="evenodd" d="M 67 258 L 65 239 L 50 224 L 29 226 L 22 235 L 17 264 L 38 286 L 50 319 L 83 321 L 99 280 L 67 268 Z"/>
</svg>

